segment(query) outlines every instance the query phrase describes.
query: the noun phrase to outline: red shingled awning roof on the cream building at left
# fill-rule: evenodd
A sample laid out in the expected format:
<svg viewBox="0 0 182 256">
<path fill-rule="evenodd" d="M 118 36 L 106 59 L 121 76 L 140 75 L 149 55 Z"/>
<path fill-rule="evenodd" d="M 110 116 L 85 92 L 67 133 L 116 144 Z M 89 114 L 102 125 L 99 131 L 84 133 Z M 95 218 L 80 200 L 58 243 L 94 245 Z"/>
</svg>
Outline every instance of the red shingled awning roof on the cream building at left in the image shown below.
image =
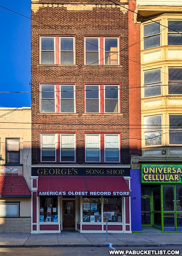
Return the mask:
<svg viewBox="0 0 182 256">
<path fill-rule="evenodd" d="M 0 176 L 0 197 L 31 197 L 23 176 Z"/>
</svg>

